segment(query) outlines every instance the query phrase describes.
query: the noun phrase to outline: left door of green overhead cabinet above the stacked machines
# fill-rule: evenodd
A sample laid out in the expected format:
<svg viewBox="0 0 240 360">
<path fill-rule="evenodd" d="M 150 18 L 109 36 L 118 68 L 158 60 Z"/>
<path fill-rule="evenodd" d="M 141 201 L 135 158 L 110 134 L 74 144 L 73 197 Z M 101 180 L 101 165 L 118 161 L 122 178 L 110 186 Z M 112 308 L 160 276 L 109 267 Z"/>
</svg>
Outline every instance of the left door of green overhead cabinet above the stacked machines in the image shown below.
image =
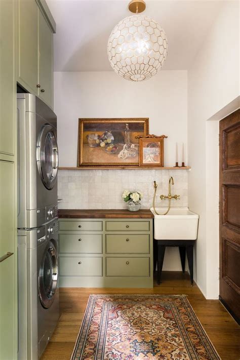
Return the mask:
<svg viewBox="0 0 240 360">
<path fill-rule="evenodd" d="M 38 95 L 38 38 L 35 0 L 18 0 L 18 82 Z"/>
</svg>

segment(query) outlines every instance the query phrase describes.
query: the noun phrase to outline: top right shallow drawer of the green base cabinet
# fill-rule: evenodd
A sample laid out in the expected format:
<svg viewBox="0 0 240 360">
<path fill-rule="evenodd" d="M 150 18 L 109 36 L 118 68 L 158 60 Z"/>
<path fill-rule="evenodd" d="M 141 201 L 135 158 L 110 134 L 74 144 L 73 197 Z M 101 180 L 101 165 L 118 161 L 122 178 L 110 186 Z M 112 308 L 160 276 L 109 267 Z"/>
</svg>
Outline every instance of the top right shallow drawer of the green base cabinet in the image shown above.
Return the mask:
<svg viewBox="0 0 240 360">
<path fill-rule="evenodd" d="M 149 231 L 149 221 L 106 221 L 106 231 Z"/>
</svg>

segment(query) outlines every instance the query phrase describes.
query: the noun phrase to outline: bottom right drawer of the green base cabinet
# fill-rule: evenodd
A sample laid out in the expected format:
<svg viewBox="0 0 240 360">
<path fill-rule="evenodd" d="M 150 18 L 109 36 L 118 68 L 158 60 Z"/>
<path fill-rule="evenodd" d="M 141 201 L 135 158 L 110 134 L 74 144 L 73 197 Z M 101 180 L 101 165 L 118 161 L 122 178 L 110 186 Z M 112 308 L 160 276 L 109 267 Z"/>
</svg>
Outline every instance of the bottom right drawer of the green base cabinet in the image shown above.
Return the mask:
<svg viewBox="0 0 240 360">
<path fill-rule="evenodd" d="M 106 276 L 149 276 L 149 258 L 106 257 Z"/>
</svg>

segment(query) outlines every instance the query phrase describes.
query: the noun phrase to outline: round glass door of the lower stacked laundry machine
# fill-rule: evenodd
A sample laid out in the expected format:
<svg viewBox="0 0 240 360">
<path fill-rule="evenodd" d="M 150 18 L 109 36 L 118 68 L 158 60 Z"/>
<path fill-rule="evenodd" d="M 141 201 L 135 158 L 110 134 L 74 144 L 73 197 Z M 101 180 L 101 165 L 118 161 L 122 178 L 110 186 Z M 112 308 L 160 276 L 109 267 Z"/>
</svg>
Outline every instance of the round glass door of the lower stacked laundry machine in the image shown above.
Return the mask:
<svg viewBox="0 0 240 360">
<path fill-rule="evenodd" d="M 54 300 L 58 282 L 58 255 L 55 241 L 44 251 L 38 271 L 38 294 L 42 305 L 49 308 Z"/>
</svg>

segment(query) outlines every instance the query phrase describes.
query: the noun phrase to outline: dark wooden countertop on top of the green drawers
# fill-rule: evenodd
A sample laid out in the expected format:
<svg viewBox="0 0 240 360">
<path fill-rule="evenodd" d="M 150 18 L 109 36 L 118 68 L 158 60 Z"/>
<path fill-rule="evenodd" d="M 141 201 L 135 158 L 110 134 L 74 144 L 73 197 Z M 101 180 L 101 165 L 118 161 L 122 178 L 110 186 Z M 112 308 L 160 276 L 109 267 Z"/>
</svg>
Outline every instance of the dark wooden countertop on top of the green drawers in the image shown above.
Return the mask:
<svg viewBox="0 0 240 360">
<path fill-rule="evenodd" d="M 154 215 L 150 210 L 139 210 L 139 211 L 129 211 L 129 210 L 68 210 L 61 209 L 58 210 L 59 219 L 121 219 L 121 218 L 130 218 L 130 219 L 152 219 Z"/>
</svg>

